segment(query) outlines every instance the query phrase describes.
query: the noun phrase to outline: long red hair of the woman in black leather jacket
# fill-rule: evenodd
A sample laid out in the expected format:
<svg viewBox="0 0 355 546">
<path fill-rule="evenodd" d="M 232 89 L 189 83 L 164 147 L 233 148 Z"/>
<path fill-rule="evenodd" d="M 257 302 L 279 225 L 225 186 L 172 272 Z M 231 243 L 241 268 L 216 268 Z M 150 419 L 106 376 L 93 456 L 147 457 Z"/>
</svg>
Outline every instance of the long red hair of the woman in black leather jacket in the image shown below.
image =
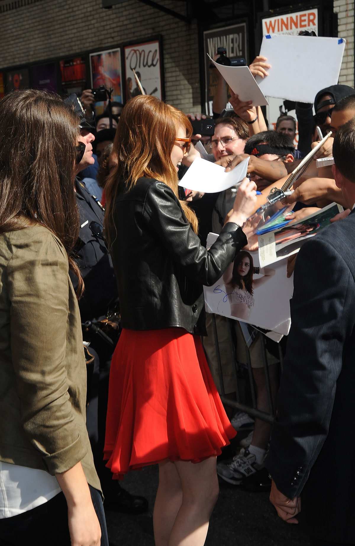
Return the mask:
<svg viewBox="0 0 355 546">
<path fill-rule="evenodd" d="M 171 161 L 179 125 L 192 134 L 190 120 L 173 106 L 151 95 L 130 99 L 122 110 L 112 153 L 118 164 L 105 186 L 105 230 L 113 228 L 112 209 L 116 195 L 128 192 L 141 177 L 165 182 L 178 197 L 178 177 Z M 197 218 L 185 201 L 180 201 L 192 229 L 197 233 Z"/>
</svg>

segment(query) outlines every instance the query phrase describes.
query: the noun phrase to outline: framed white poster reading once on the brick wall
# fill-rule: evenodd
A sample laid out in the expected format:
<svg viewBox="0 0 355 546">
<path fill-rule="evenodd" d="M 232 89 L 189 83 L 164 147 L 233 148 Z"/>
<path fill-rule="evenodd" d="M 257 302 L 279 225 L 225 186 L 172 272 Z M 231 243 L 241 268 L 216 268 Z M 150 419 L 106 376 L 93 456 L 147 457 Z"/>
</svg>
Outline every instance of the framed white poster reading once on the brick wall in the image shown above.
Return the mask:
<svg viewBox="0 0 355 546">
<path fill-rule="evenodd" d="M 146 94 L 164 98 L 162 83 L 160 38 L 141 44 L 124 46 L 125 96 L 126 100 L 141 94 L 133 70 L 137 74 Z"/>
</svg>

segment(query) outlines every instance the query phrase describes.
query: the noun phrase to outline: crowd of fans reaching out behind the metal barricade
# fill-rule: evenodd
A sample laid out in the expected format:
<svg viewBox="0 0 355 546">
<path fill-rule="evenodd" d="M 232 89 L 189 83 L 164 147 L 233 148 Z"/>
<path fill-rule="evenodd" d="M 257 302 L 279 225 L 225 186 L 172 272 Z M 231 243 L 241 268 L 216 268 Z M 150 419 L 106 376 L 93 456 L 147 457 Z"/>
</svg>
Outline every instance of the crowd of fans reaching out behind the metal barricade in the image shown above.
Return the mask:
<svg viewBox="0 0 355 546">
<path fill-rule="evenodd" d="M 256 57 L 250 66 L 252 74 L 261 75 L 262 77 L 267 75 L 268 68 L 269 64 L 267 64 L 266 58 L 263 57 Z M 255 181 L 258 191 L 262 193 L 258 198 L 260 204 L 266 201 L 266 196 L 271 188 L 282 186 L 288 173 L 311 150 L 312 143 L 319 140 L 320 137 L 317 134 L 316 126 L 321 128 L 323 135 L 329 129 L 335 133 L 342 124 L 355 115 L 355 90 L 348 86 L 335 85 L 317 93 L 314 102 L 315 115 L 312 114 L 311 104 L 293 104 L 291 107 L 296 110 L 298 123 L 293 116 L 288 115 L 287 112 L 282 112 L 276 121 L 275 129 L 269 130 L 262 109 L 250 106 L 251 101 L 241 102 L 231 90 L 228 97 L 225 81 L 215 68 L 214 70 L 217 72 L 218 78 L 216 95 L 213 100 L 214 134 L 213 136 L 192 135 L 192 141 L 196 143 L 198 140 L 203 140 L 203 145 L 209 154 L 209 161 L 224 167 L 232 165 L 233 168 L 240 161 L 249 157 L 248 177 L 250 177 L 250 180 Z M 226 109 L 228 100 L 233 109 Z M 83 92 L 82 101 L 85 103 L 86 108 L 91 111 L 93 97 L 90 96 L 89 91 Z M 287 102 L 286 105 L 288 105 Z M 119 106 L 121 107 L 121 105 Z M 113 108 L 115 107 L 116 104 L 113 104 Z M 206 116 L 198 113 L 187 115 L 192 121 L 206 118 Z M 103 204 L 105 203 L 105 178 L 115 165 L 115 157 L 110 153 L 119 112 L 117 112 L 117 117 L 111 116 L 113 125 L 111 129 L 109 128 L 109 117 L 105 116 L 107 116 L 107 112 L 95 118 L 96 136 L 93 150 L 96 151 L 97 156 L 93 157 L 94 166 L 96 167 L 97 163 L 100 165 L 97 176 L 94 179 L 91 178 L 92 169 L 85 169 L 80 173 L 81 179 L 91 189 L 91 192 L 99 197 Z M 296 135 L 299 136 L 298 149 L 295 145 Z M 318 152 L 317 157 L 332 155 L 332 141 L 333 138 L 330 138 L 324 149 Z M 192 161 L 196 157 L 200 157 L 200 155 L 200 152 L 191 145 L 189 155 L 183 160 L 183 165 L 179 169 L 179 177 L 185 173 Z M 331 169 L 316 169 L 315 162 L 303 177 L 297 181 L 293 189 L 295 192 L 287 198 L 287 201 L 288 204 L 294 205 L 292 207 L 295 213 L 294 221 L 332 201 L 344 204 L 341 192 L 335 185 Z M 180 193 L 180 197 L 186 198 L 183 191 Z M 208 194 L 189 192 L 187 200 L 191 208 L 196 212 L 199 223 L 198 235 L 204 245 L 206 245 L 209 232 L 220 233 L 227 213 L 233 206 L 234 198 L 235 193 L 231 190 Z M 255 250 L 255 246 L 252 250 Z M 208 336 L 203 342 L 204 350 L 214 381 L 221 393 L 212 317 L 208 313 L 206 324 Z M 224 379 L 224 394 L 227 398 L 233 400 L 235 399 L 234 364 L 227 335 L 226 319 L 217 316 L 216 327 Z M 266 377 L 263 370 L 260 335 L 256 335 L 249 353 L 256 388 L 257 409 L 268 413 L 270 408 L 268 405 Z M 237 366 L 243 369 L 243 366 L 246 366 L 245 342 L 237 321 L 235 342 Z M 278 350 L 275 344 L 268 340 L 266 351 L 273 413 L 275 413 L 279 382 Z M 251 429 L 251 432 L 240 441 L 242 449 L 231 461 L 221 461 L 218 464 L 219 476 L 235 485 L 243 483 L 246 488 L 252 490 L 267 489 L 270 486 L 270 479 L 263 467 L 263 460 L 268 446 L 270 425 L 258 418 L 254 421 L 244 412 L 237 412 L 233 415 L 232 408 L 227 406 L 226 411 L 237 430 Z"/>
</svg>

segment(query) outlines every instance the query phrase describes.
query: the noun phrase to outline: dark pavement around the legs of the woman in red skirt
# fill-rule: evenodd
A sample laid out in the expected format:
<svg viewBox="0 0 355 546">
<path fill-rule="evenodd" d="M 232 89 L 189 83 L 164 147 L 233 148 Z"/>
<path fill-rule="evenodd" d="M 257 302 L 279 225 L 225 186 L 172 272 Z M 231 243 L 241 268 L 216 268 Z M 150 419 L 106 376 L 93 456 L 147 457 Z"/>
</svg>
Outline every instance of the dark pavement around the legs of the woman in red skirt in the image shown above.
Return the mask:
<svg viewBox="0 0 355 546">
<path fill-rule="evenodd" d="M 158 466 L 133 471 L 122 485 L 130 493 L 149 500 L 148 511 L 139 515 L 106 510 L 110 546 L 154 546 L 153 506 L 158 485 Z M 308 546 L 297 525 L 281 521 L 268 493 L 252 493 L 220 480 L 219 500 L 210 520 L 206 546 Z"/>
</svg>

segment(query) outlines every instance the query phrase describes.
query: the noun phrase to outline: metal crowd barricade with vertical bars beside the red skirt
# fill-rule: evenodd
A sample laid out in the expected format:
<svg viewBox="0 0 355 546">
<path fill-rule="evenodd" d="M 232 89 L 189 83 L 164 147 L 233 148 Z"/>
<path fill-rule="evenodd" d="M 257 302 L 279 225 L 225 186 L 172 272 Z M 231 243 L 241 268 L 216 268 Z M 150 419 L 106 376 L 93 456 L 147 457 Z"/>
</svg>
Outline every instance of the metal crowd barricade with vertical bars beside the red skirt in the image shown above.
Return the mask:
<svg viewBox="0 0 355 546">
<path fill-rule="evenodd" d="M 216 327 L 215 315 L 212 314 L 212 329 L 213 329 L 213 336 L 214 336 L 216 360 L 217 360 L 217 364 L 218 364 L 219 382 L 220 382 L 220 390 L 221 390 L 221 393 L 220 393 L 221 394 L 221 400 L 227 406 L 236 408 L 237 410 L 240 410 L 240 411 L 244 411 L 245 413 L 248 413 L 253 418 L 257 417 L 259 419 L 262 419 L 263 421 L 266 421 L 267 423 L 272 424 L 273 419 L 274 419 L 274 412 L 273 412 L 272 396 L 271 396 L 271 389 L 270 389 L 269 369 L 268 369 L 268 361 L 267 361 L 267 353 L 266 353 L 264 335 L 262 333 L 260 333 L 262 359 L 263 359 L 263 370 L 264 370 L 264 375 L 265 375 L 265 380 L 266 380 L 266 390 L 267 390 L 269 413 L 260 411 L 256 407 L 256 393 L 255 393 L 254 377 L 253 377 L 253 373 L 252 373 L 249 348 L 246 345 L 246 343 L 245 343 L 245 357 L 246 357 L 246 364 L 247 364 L 247 367 L 248 367 L 248 378 L 249 378 L 249 386 L 250 386 L 251 405 L 248 405 L 248 404 L 244 403 L 240 399 L 241 398 L 240 397 L 240 382 L 242 380 L 245 381 L 245 378 L 240 377 L 240 374 L 238 373 L 238 363 L 237 363 L 237 358 L 236 358 L 236 346 L 234 344 L 234 337 L 233 337 L 233 330 L 234 330 L 235 322 L 236 321 L 234 321 L 231 318 L 227 319 L 228 340 L 229 340 L 229 343 L 230 343 L 230 350 L 231 350 L 232 364 L 233 364 L 234 383 L 235 383 L 235 392 L 236 392 L 236 400 L 230 400 L 225 396 L 224 379 L 223 379 L 221 357 L 220 357 L 220 350 L 219 350 L 219 343 L 218 343 L 218 331 L 217 331 L 217 327 Z M 279 344 L 279 359 L 280 359 L 280 367 L 281 367 L 281 371 L 282 371 L 282 351 L 281 351 L 280 344 Z"/>
</svg>

